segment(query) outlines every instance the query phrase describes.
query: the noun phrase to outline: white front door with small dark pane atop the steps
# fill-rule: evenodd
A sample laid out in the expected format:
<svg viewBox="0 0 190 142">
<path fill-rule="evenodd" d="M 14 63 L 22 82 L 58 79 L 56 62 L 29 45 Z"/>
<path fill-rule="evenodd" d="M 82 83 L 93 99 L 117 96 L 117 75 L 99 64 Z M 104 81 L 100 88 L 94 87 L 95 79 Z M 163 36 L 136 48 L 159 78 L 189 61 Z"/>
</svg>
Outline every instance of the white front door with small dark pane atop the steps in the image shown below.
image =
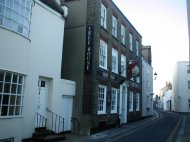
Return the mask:
<svg viewBox="0 0 190 142">
<path fill-rule="evenodd" d="M 39 90 L 37 98 L 37 112 L 46 118 L 47 98 L 48 98 L 48 84 L 46 80 L 39 80 Z"/>
</svg>

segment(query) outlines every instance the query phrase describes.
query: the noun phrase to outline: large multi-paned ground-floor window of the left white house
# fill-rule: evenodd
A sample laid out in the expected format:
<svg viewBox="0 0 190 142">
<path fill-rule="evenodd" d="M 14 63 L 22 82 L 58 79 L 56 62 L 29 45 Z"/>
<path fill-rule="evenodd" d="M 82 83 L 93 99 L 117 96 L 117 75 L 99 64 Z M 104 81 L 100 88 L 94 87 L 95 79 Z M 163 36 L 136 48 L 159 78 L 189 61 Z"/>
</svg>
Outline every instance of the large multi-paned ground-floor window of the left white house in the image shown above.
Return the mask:
<svg viewBox="0 0 190 142">
<path fill-rule="evenodd" d="M 0 117 L 22 115 L 25 76 L 0 70 Z"/>
</svg>

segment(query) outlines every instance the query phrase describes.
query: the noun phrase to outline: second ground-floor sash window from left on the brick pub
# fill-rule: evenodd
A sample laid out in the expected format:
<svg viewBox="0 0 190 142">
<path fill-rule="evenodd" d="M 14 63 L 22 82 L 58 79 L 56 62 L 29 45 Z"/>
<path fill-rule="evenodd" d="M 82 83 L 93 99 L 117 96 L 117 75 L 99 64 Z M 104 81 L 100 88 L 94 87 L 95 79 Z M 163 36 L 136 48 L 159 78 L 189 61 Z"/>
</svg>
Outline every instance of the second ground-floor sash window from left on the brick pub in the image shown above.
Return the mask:
<svg viewBox="0 0 190 142">
<path fill-rule="evenodd" d="M 117 89 L 112 88 L 111 93 L 111 113 L 117 113 Z"/>
</svg>

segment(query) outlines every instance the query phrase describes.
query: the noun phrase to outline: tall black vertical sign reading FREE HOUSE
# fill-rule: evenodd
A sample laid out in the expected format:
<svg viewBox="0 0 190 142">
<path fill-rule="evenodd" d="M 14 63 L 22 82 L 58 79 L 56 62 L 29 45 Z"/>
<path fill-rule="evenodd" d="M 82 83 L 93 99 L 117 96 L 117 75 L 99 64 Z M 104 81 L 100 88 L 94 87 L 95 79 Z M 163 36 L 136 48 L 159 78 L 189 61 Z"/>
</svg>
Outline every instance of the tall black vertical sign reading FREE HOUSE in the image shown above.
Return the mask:
<svg viewBox="0 0 190 142">
<path fill-rule="evenodd" d="M 92 48 L 93 48 L 93 26 L 86 27 L 86 52 L 85 52 L 85 73 L 90 73 L 92 68 Z"/>
</svg>

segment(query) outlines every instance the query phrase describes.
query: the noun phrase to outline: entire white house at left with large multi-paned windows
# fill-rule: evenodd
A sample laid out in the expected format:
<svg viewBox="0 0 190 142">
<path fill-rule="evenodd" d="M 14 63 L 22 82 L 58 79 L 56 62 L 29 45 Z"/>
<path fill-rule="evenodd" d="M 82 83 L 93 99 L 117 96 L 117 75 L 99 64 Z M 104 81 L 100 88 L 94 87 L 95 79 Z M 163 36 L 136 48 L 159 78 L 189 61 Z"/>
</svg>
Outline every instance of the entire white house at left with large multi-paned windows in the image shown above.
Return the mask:
<svg viewBox="0 0 190 142">
<path fill-rule="evenodd" d="M 32 137 L 42 118 L 51 129 L 52 114 L 64 118 L 53 131 L 71 130 L 76 84 L 60 77 L 65 16 L 55 0 L 0 1 L 0 140 Z"/>
</svg>

